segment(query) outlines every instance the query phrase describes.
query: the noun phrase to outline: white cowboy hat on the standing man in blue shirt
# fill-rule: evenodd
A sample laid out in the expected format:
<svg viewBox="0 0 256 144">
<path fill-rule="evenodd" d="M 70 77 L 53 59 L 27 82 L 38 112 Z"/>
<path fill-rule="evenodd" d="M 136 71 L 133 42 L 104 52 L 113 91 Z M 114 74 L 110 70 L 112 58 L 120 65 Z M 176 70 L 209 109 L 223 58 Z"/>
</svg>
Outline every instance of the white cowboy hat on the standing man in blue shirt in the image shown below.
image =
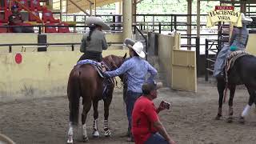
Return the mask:
<svg viewBox="0 0 256 144">
<path fill-rule="evenodd" d="M 135 53 L 138 54 L 139 57 L 145 58 L 146 54 L 143 51 L 143 44 L 142 44 L 142 42 L 134 42 L 134 40 L 132 40 L 130 38 L 126 38 L 125 39 L 125 44 L 130 49 L 133 49 L 135 51 Z"/>
</svg>

